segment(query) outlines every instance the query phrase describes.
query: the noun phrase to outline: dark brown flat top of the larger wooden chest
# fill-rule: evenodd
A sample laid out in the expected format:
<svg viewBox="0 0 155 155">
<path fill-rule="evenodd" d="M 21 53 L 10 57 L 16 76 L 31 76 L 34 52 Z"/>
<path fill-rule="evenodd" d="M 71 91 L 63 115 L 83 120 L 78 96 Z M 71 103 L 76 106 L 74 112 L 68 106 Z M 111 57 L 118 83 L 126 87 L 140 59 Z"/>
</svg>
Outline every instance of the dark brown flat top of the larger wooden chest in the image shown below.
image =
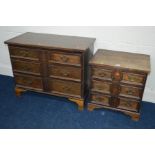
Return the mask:
<svg viewBox="0 0 155 155">
<path fill-rule="evenodd" d="M 5 41 L 5 43 L 9 45 L 85 51 L 92 46 L 94 41 L 95 38 L 27 32 Z"/>
</svg>

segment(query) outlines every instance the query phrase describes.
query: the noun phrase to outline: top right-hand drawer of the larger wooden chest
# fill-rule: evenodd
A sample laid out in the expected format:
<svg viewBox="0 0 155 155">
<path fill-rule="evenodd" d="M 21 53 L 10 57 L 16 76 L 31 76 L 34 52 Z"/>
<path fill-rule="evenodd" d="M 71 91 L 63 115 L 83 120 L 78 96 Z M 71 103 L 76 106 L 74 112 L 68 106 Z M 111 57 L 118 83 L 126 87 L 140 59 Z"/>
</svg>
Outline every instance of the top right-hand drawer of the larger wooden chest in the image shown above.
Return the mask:
<svg viewBox="0 0 155 155">
<path fill-rule="evenodd" d="M 50 53 L 50 62 L 81 66 L 81 56 L 65 53 Z"/>
</svg>

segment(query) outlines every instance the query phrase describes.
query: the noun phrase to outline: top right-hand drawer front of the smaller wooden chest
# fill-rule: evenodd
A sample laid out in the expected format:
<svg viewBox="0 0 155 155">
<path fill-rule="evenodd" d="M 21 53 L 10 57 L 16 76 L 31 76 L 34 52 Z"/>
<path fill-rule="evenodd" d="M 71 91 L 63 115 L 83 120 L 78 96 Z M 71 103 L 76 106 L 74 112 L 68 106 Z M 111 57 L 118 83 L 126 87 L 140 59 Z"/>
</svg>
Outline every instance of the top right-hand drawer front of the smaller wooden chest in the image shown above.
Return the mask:
<svg viewBox="0 0 155 155">
<path fill-rule="evenodd" d="M 123 81 L 143 85 L 145 82 L 145 76 L 140 74 L 123 73 Z"/>
</svg>

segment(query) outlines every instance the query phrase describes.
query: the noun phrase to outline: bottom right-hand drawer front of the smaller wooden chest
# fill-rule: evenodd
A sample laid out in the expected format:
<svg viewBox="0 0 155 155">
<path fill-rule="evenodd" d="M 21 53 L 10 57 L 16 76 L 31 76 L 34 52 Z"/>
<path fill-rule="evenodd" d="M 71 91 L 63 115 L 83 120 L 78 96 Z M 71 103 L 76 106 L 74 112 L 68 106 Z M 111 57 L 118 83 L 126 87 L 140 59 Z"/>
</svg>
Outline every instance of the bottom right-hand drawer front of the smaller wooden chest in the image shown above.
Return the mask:
<svg viewBox="0 0 155 155">
<path fill-rule="evenodd" d="M 139 102 L 130 99 L 120 98 L 118 108 L 138 112 Z"/>
</svg>

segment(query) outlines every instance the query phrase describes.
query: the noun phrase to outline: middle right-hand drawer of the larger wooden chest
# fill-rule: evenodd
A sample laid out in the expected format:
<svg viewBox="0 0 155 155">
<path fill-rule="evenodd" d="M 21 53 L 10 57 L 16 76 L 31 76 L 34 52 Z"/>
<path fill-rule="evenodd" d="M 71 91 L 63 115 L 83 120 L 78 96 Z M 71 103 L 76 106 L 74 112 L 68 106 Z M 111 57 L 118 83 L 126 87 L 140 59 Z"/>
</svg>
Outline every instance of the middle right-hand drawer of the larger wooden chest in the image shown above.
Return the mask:
<svg viewBox="0 0 155 155">
<path fill-rule="evenodd" d="M 72 66 L 51 65 L 49 67 L 50 77 L 59 77 L 81 81 L 81 68 Z"/>
</svg>

